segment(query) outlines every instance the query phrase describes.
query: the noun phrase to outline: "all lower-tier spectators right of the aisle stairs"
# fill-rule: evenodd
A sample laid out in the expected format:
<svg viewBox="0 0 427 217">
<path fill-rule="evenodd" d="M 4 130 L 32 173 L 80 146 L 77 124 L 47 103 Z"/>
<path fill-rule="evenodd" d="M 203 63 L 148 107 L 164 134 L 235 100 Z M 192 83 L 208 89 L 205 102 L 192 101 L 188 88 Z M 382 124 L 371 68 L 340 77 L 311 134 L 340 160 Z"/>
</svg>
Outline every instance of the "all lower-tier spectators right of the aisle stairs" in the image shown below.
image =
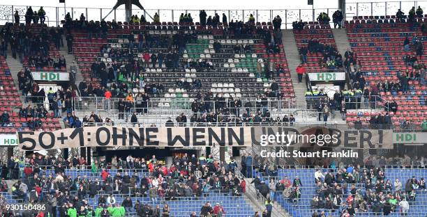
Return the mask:
<svg viewBox="0 0 427 217">
<path fill-rule="evenodd" d="M 242 156 L 242 172 L 246 170 L 248 163 L 253 167 L 248 168 L 247 172 L 251 175 L 252 170 L 255 169 L 259 174 L 251 184 L 255 184 L 260 195 L 269 201 L 283 197 L 290 203 L 298 205 L 301 190 L 307 188 L 303 186 L 300 177 L 296 176 L 292 180 L 284 175 L 279 179 L 276 165 L 258 155 Z M 310 190 L 315 191 L 310 204 L 311 209 L 315 210 L 313 217 L 323 217 L 324 214 L 332 213 L 349 217 L 354 216 L 356 212 L 366 211 L 373 211 L 378 216 L 382 214 L 387 216 L 391 211 L 407 214 L 409 205 L 417 198 L 417 193 L 426 191 L 426 182 L 423 177 L 413 176 L 400 182 L 399 179 L 387 179 L 387 174 L 384 172 L 384 165 L 396 165 L 394 168 L 411 165 L 414 168 L 425 168 L 427 161 L 423 156 L 413 159 L 407 154 L 395 158 L 369 156 L 361 164 L 344 163 L 334 159 L 322 159 L 322 162 L 318 163 L 321 163 L 319 166 L 330 169 L 315 171 L 313 178 L 315 188 Z M 304 179 L 306 179 L 305 176 Z M 307 193 L 307 191 L 304 192 Z M 405 202 L 402 202 L 403 200 Z M 402 209 L 405 210 L 401 211 Z"/>
</svg>

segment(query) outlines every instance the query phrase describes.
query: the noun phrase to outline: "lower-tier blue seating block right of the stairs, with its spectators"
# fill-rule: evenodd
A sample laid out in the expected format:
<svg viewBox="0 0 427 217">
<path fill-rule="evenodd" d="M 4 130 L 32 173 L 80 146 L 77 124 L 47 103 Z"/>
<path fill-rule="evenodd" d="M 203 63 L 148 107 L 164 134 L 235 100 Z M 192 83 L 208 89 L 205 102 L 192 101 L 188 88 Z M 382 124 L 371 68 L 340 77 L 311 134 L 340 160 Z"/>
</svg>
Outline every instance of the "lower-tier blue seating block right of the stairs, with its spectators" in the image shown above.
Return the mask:
<svg viewBox="0 0 427 217">
<path fill-rule="evenodd" d="M 387 209 L 384 208 L 387 206 L 386 203 L 389 203 L 392 199 L 391 195 L 398 195 L 398 201 L 392 206 L 394 207 L 393 212 L 389 216 L 400 216 L 399 212 L 401 211 L 399 211 L 398 203 L 403 198 L 410 202 L 408 216 L 426 215 L 426 211 L 422 208 L 427 196 L 426 191 L 418 187 L 419 181 L 422 182 L 421 178 L 426 177 L 424 168 L 385 168 L 383 169 L 384 175 L 378 175 L 377 168 L 373 168 L 374 170 L 371 168 L 370 172 L 369 170 L 366 172 L 366 169 L 349 172 L 350 167 L 352 168 L 351 165 L 344 169 L 287 168 L 278 169 L 276 171 L 277 177 L 264 176 L 260 172 L 257 172 L 256 175 L 267 184 L 269 184 L 271 178 L 274 179 L 275 188 L 277 188 L 276 184 L 278 182 L 281 183 L 278 186 L 280 188 L 283 187 L 283 191 L 276 191 L 274 199 L 285 207 L 292 216 L 311 216 L 314 211 L 317 214 L 321 214 L 324 211 L 325 216 L 336 216 L 336 212 L 340 214 L 345 209 L 336 206 L 336 200 L 345 204 L 352 204 L 354 209 L 358 209 L 355 216 L 382 215 L 382 212 Z M 320 184 L 314 182 L 315 172 L 317 171 L 322 174 L 319 175 L 321 177 Z M 366 174 L 368 175 L 366 176 Z M 325 176 L 329 181 L 325 179 Z M 412 186 L 413 178 L 415 179 L 414 186 Z M 398 190 L 398 186 L 394 185 L 396 179 L 403 183 L 403 187 L 400 186 L 400 190 Z M 368 180 L 372 184 L 368 184 Z M 324 184 L 325 182 L 330 183 Z M 393 184 L 388 184 L 387 182 Z M 338 185 L 336 185 L 337 183 Z M 386 183 L 390 188 L 386 186 Z M 353 186 L 355 187 L 354 189 L 352 188 Z M 317 201 L 313 202 L 315 198 L 317 198 Z M 328 201 L 331 201 L 331 204 Z M 375 206 L 380 206 L 380 211 L 377 211 L 374 208 Z M 354 209 L 352 210 L 353 214 Z M 347 210 L 350 209 L 347 207 Z"/>
</svg>

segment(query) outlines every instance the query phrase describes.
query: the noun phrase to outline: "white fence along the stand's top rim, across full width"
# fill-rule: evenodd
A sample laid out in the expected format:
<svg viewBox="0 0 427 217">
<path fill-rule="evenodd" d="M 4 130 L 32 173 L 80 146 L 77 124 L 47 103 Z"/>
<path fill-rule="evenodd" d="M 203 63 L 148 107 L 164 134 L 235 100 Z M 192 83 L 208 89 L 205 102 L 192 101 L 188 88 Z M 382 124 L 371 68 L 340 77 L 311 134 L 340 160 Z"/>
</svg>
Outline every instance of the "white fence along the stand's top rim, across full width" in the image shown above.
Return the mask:
<svg viewBox="0 0 427 217">
<path fill-rule="evenodd" d="M 402 9 L 406 14 L 414 7 L 421 6 L 424 12 L 427 11 L 427 1 L 382 1 L 382 2 L 346 2 L 345 4 L 345 19 L 350 20 L 353 16 L 374 16 L 374 15 L 396 15 L 398 9 Z M 20 15 L 24 15 L 29 6 L 14 6 L 4 5 L 0 6 L 0 22 L 13 22 L 13 15 L 15 10 L 18 10 Z M 34 9 L 39 6 L 32 6 Z M 101 20 L 105 15 L 110 13 L 111 8 L 76 8 L 76 7 L 48 7 L 43 6 L 46 15 L 52 19 L 46 20 L 47 25 L 57 26 L 61 24 L 61 20 L 64 19 L 66 13 L 70 13 L 71 18 L 78 19 L 81 14 L 86 17 L 87 20 Z M 203 9 L 203 8 L 201 8 Z M 247 21 L 250 14 L 253 14 L 256 21 L 259 22 L 272 22 L 276 15 L 282 17 L 283 29 L 291 29 L 292 22 L 302 19 L 303 21 L 316 21 L 317 15 L 320 13 L 327 13 L 329 17 L 332 17 L 337 8 L 313 8 L 313 9 L 274 9 L 274 10 L 206 10 L 208 15 L 214 15 L 218 13 L 221 15 L 224 13 L 228 20 L 235 21 Z M 193 22 L 200 22 L 199 20 L 200 10 L 172 10 L 172 9 L 147 9 L 145 11 L 134 9 L 133 15 L 153 15 L 158 13 L 160 16 L 160 22 L 178 22 L 181 13 L 190 13 L 193 15 Z M 3 14 L 2 14 L 3 13 Z M 123 22 L 125 19 L 126 11 L 118 8 L 113 13 L 108 15 L 105 20 Z"/>
</svg>

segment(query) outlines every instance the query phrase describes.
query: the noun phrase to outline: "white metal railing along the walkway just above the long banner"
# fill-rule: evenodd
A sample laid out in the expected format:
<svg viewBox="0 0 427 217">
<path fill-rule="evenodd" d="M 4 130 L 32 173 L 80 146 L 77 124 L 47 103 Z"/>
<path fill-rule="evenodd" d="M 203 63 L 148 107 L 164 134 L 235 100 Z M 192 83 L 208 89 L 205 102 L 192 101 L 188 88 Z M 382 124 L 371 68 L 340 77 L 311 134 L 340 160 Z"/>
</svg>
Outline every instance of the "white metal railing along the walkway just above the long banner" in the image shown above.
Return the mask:
<svg viewBox="0 0 427 217">
<path fill-rule="evenodd" d="M 237 99 L 237 98 L 236 98 Z M 266 99 L 257 99 L 254 97 L 243 97 L 239 98 L 241 101 L 241 106 L 236 107 L 232 106 L 234 102 L 225 99 L 223 101 L 202 101 L 199 100 L 199 103 L 204 106 L 205 109 L 209 109 L 206 112 L 216 111 L 218 109 L 229 109 L 230 112 L 239 110 L 240 114 L 243 114 L 244 111 L 248 113 L 254 113 L 257 111 L 262 111 L 265 113 L 269 111 L 270 113 L 290 113 L 298 110 L 316 110 L 316 104 L 320 102 L 320 99 L 324 97 L 287 97 L 282 99 L 277 98 L 266 98 Z M 354 101 L 357 99 L 357 101 Z M 105 111 L 109 115 L 117 115 L 118 103 L 121 98 L 110 98 L 106 99 L 105 97 L 75 97 L 73 99 L 73 110 L 82 111 L 82 112 L 91 112 L 91 111 Z M 150 98 L 147 102 L 141 102 L 141 104 L 134 102 L 131 104 L 128 111 L 122 111 L 121 113 L 145 113 L 148 115 L 177 115 L 182 112 L 191 111 L 192 104 L 195 99 L 192 98 Z M 347 109 L 384 109 L 384 106 L 380 102 L 384 102 L 384 99 L 378 95 L 369 99 L 368 102 L 365 101 L 365 98 L 361 96 L 360 98 L 352 97 L 354 102 L 347 102 Z M 246 103 L 250 102 L 250 106 L 247 106 Z M 337 108 L 340 105 L 336 105 Z"/>
</svg>

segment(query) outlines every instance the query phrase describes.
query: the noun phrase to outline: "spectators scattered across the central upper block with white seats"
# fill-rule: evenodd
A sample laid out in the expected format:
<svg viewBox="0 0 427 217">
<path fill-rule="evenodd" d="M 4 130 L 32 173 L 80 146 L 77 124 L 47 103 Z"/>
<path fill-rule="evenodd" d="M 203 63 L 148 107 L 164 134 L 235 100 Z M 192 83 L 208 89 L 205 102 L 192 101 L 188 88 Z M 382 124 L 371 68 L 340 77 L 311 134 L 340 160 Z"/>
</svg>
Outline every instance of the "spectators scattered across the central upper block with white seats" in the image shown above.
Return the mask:
<svg viewBox="0 0 427 217">
<path fill-rule="evenodd" d="M 203 17 L 204 12 L 202 11 L 200 15 Z M 187 19 L 185 19 L 187 17 Z M 182 22 L 188 21 L 188 15 L 182 16 Z M 82 17 L 83 18 L 83 17 Z M 223 17 L 224 18 L 224 17 Z M 213 18 L 212 18 L 213 19 Z M 215 16 L 212 22 L 217 22 L 218 15 Z M 225 17 L 226 19 L 226 17 Z M 187 20 L 187 21 L 186 21 Z M 209 17 L 206 22 L 209 21 Z M 259 26 L 255 26 L 255 24 L 248 22 L 227 22 L 227 26 L 225 26 L 225 34 L 234 34 L 235 37 L 239 38 L 239 35 L 248 35 L 248 34 L 259 34 L 264 38 L 264 44 L 266 45 L 266 51 L 271 54 L 276 54 L 280 52 L 281 43 L 281 33 L 280 33 L 280 22 L 281 18 L 279 16 L 275 17 L 275 31 L 271 33 L 267 29 L 262 29 Z M 80 19 L 80 21 L 72 21 L 68 19 L 68 24 L 72 26 L 71 28 L 82 29 L 86 24 L 84 19 Z M 209 25 L 201 19 L 200 24 Z M 96 25 L 102 26 L 103 22 L 96 23 Z M 111 25 L 107 26 L 107 29 L 114 29 L 114 21 Z M 121 28 L 120 26 L 117 28 Z M 93 29 L 93 28 L 91 28 Z M 98 27 L 95 28 L 98 31 Z M 96 34 L 100 35 L 100 34 Z M 130 117 L 130 113 L 132 113 L 132 109 L 135 108 L 137 113 L 147 113 L 147 104 L 149 102 L 148 94 L 156 94 L 163 93 L 165 87 L 163 83 L 156 83 L 153 81 L 149 81 L 149 79 L 145 79 L 145 75 L 147 72 L 147 68 L 157 68 L 161 67 L 166 70 L 179 70 L 179 68 L 195 68 L 200 71 L 210 72 L 211 70 L 215 70 L 213 67 L 213 63 L 206 60 L 196 61 L 188 61 L 181 65 L 180 58 L 183 49 L 186 47 L 186 43 L 194 42 L 197 39 L 197 35 L 195 33 L 183 33 L 179 32 L 174 35 L 150 35 L 148 33 L 140 32 L 137 35 L 130 33 L 128 35 L 128 48 L 124 47 L 123 49 L 118 48 L 108 48 L 101 47 L 100 54 L 108 54 L 110 58 L 112 58 L 112 62 L 105 63 L 103 61 L 96 61 L 91 65 L 91 74 L 92 77 L 100 78 L 100 87 L 93 87 L 91 83 L 87 81 L 82 81 L 79 84 L 79 90 L 82 97 L 89 96 L 97 96 L 97 97 L 106 97 L 107 99 L 118 97 L 121 100 L 117 106 L 119 110 L 119 118 L 125 119 L 126 117 Z M 137 47 L 137 49 L 135 49 Z M 214 45 L 214 48 L 220 53 L 221 45 L 218 41 Z M 130 49 L 129 49 L 130 48 Z M 155 51 L 159 49 L 158 51 Z M 163 49 L 168 49 L 169 52 L 163 51 Z M 177 51 L 170 52 L 171 49 L 177 49 Z M 241 45 L 237 45 L 234 49 L 236 54 L 247 53 L 251 51 L 250 45 L 246 47 L 242 47 Z M 142 57 L 137 60 L 134 59 L 135 53 L 142 53 Z M 271 62 L 271 63 L 269 63 Z M 263 63 L 258 63 L 263 64 Z M 282 67 L 274 67 L 274 63 L 272 61 L 268 61 L 264 63 L 265 77 L 267 79 L 271 79 L 271 77 L 276 77 L 276 74 L 280 72 L 284 72 Z M 258 67 L 257 67 L 258 68 Z M 260 70 L 257 70 L 257 77 L 261 77 L 262 65 L 259 67 Z M 259 71 L 259 72 L 258 72 Z M 169 72 L 169 71 L 168 71 Z M 268 97 L 280 97 L 280 88 L 278 88 L 277 82 L 274 82 L 276 85 L 272 85 L 271 92 L 265 93 Z M 192 82 L 181 81 L 181 79 L 177 80 L 177 86 L 181 88 L 185 88 L 186 90 L 195 90 L 202 86 L 202 82 L 200 79 L 195 79 Z M 144 94 L 140 95 L 138 93 L 130 93 L 132 88 L 144 89 Z M 218 96 L 217 96 L 218 97 Z M 214 97 L 211 97 L 214 98 Z M 234 99 L 233 99 L 234 100 Z M 127 114 L 126 114 L 127 113 Z M 265 112 L 264 112 L 265 113 Z M 213 113 L 208 115 L 208 112 L 203 116 L 210 120 L 210 116 Z M 199 115 L 202 116 L 202 115 Z M 223 115 L 224 116 L 224 115 Z M 257 120 L 257 115 L 252 115 L 255 120 Z M 265 122 L 269 122 L 269 117 L 262 115 L 261 120 L 265 120 Z M 198 117 L 201 118 L 201 117 Z M 128 119 L 128 118 L 126 118 Z M 193 118 L 194 120 L 195 118 Z M 244 121 L 244 118 L 240 118 L 241 122 Z M 248 118 L 251 120 L 252 118 Z M 227 118 L 225 121 L 234 121 L 235 118 Z"/>
</svg>

